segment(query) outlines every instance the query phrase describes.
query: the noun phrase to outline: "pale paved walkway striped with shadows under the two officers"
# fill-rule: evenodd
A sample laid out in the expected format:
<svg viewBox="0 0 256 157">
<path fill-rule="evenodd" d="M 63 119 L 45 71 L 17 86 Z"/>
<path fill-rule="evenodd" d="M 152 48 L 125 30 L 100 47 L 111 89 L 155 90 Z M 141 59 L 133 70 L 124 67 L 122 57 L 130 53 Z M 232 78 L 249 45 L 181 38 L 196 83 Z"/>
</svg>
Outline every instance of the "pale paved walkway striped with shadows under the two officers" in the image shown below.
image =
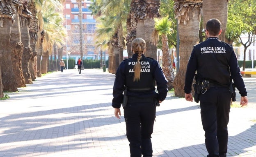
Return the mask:
<svg viewBox="0 0 256 157">
<path fill-rule="evenodd" d="M 64 70 L 8 93 L 0 101 L 0 157 L 129 157 L 123 115 L 115 118 L 111 106 L 114 77 L 95 69 L 80 75 Z M 253 106 L 256 80 L 245 82 Z M 228 157 L 256 157 L 255 113 L 231 108 Z M 154 157 L 206 156 L 197 103 L 168 95 L 156 114 Z"/>
</svg>

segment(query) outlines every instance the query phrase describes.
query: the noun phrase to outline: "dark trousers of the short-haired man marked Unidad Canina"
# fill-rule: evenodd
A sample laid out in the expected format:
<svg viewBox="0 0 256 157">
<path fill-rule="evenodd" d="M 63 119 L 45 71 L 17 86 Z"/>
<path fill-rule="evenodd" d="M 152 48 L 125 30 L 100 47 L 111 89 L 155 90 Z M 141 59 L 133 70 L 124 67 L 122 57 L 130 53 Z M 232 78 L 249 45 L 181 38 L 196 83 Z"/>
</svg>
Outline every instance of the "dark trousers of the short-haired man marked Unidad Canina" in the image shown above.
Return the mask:
<svg viewBox="0 0 256 157">
<path fill-rule="evenodd" d="M 231 94 L 228 88 L 212 87 L 200 94 L 201 120 L 207 157 L 226 157 Z"/>
</svg>

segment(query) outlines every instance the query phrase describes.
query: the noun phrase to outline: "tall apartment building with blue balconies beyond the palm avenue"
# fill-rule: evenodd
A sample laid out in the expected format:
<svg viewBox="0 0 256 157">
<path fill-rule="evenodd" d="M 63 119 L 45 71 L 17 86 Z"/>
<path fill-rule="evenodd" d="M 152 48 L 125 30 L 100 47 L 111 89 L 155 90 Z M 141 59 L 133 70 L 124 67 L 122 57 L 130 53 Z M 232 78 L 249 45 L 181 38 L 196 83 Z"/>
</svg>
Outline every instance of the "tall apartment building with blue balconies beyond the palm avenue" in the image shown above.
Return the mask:
<svg viewBox="0 0 256 157">
<path fill-rule="evenodd" d="M 94 44 L 94 32 L 96 29 L 96 19 L 88 9 L 92 2 L 82 0 L 82 50 L 83 59 L 100 59 L 100 49 Z M 80 34 L 79 34 L 79 8 L 76 0 L 66 0 L 63 3 L 63 14 L 66 20 L 67 39 L 66 46 L 63 47 L 63 58 L 80 57 Z"/>
</svg>

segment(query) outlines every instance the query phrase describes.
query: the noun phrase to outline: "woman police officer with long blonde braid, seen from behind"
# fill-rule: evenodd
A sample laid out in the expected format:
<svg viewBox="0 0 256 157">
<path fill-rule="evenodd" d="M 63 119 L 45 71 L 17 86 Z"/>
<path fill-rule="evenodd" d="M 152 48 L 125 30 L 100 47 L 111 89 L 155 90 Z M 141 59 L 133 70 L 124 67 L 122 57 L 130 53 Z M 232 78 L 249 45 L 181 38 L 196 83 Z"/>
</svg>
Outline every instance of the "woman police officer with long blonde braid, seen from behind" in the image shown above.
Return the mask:
<svg viewBox="0 0 256 157">
<path fill-rule="evenodd" d="M 136 38 L 132 42 L 133 57 L 124 60 L 117 69 L 113 87 L 112 106 L 120 119 L 123 91 L 127 88 L 127 104 L 123 104 L 126 135 L 130 142 L 130 157 L 152 157 L 151 134 L 155 108 L 165 100 L 167 79 L 156 60 L 145 57 L 146 42 Z M 158 93 L 155 92 L 155 81 Z"/>
</svg>

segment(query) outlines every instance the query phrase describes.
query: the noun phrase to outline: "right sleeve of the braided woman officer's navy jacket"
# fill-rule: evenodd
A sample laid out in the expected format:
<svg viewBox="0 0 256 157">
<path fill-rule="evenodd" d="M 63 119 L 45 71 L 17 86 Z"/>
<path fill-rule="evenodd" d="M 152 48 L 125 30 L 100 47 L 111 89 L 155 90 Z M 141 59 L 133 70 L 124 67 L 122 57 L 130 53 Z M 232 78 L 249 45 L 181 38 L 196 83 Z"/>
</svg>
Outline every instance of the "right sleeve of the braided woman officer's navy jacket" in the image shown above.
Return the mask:
<svg viewBox="0 0 256 157">
<path fill-rule="evenodd" d="M 154 78 L 157 85 L 158 90 L 158 100 L 163 101 L 165 100 L 168 92 L 168 86 L 167 86 L 167 79 L 165 77 L 164 72 L 162 71 L 161 66 L 158 64 L 156 60 L 154 60 L 155 67 L 154 67 Z"/>
</svg>

